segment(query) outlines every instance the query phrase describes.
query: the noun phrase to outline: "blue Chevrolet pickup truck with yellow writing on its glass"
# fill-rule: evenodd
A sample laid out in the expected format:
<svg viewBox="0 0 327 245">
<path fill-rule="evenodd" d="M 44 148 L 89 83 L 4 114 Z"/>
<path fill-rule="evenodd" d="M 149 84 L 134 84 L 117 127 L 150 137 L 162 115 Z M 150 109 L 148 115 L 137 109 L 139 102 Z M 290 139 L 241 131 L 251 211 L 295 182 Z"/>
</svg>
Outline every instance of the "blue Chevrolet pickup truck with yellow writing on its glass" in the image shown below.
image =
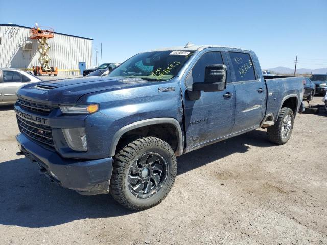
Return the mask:
<svg viewBox="0 0 327 245">
<path fill-rule="evenodd" d="M 18 153 L 65 188 L 149 208 L 171 190 L 176 156 L 258 128 L 286 143 L 303 80 L 265 78 L 255 53 L 239 48 L 139 53 L 105 77 L 21 87 Z"/>
</svg>

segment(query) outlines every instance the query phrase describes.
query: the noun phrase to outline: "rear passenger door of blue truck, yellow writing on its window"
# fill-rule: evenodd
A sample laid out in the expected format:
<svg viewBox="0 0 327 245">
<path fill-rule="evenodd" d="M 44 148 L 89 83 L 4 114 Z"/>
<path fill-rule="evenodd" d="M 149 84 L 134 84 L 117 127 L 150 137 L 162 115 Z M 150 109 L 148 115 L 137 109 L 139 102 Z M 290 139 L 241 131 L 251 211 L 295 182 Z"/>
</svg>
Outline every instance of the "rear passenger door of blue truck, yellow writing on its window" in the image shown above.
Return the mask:
<svg viewBox="0 0 327 245">
<path fill-rule="evenodd" d="M 259 127 L 266 112 L 266 84 L 255 72 L 250 53 L 228 52 L 233 70 L 236 107 L 232 133 Z M 259 67 L 260 68 L 260 67 Z"/>
</svg>

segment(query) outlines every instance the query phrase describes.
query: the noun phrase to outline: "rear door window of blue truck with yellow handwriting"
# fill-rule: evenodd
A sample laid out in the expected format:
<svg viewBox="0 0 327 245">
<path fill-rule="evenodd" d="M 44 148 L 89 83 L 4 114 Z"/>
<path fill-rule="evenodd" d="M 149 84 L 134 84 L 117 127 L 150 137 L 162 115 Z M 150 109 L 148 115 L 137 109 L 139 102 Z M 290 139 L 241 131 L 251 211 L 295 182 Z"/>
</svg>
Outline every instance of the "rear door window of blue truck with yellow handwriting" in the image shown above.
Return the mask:
<svg viewBox="0 0 327 245">
<path fill-rule="evenodd" d="M 229 52 L 231 62 L 235 71 L 236 82 L 255 80 L 255 72 L 249 54 Z"/>
</svg>

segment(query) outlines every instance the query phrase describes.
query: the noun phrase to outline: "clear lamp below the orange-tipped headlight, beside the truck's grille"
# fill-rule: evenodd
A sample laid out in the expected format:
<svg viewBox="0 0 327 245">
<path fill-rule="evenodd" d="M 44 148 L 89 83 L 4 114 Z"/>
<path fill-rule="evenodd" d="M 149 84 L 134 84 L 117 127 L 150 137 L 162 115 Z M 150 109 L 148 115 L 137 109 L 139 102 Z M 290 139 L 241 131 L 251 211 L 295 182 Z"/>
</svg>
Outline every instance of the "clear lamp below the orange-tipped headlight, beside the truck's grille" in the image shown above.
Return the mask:
<svg viewBox="0 0 327 245">
<path fill-rule="evenodd" d="M 87 142 L 84 128 L 62 129 L 63 135 L 72 150 L 87 151 Z"/>
</svg>

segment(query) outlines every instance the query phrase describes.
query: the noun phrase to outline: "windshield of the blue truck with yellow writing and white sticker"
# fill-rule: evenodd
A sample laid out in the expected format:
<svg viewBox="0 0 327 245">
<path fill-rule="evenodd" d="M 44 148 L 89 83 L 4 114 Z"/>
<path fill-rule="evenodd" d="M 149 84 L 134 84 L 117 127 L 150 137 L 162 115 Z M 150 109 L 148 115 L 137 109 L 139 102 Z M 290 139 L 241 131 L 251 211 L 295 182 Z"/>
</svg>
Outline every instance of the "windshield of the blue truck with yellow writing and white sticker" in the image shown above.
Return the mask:
<svg viewBox="0 0 327 245">
<path fill-rule="evenodd" d="M 110 72 L 108 77 L 166 81 L 176 76 L 193 53 L 173 50 L 139 53 Z"/>
</svg>

